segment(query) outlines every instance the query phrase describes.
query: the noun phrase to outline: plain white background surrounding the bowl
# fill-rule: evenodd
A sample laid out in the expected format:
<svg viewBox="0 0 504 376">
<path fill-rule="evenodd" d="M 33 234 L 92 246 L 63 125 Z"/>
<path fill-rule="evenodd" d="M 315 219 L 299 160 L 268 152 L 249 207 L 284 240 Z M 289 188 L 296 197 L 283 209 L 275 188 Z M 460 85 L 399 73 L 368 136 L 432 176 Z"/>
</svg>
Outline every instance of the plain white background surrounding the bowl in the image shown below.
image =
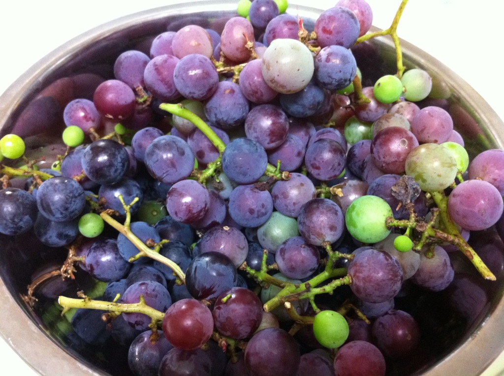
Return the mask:
<svg viewBox="0 0 504 376">
<path fill-rule="evenodd" d="M 297 0 L 296 4 L 327 9 L 336 1 Z M 67 40 L 115 18 L 175 3 L 191 1 L 4 2 L 0 12 L 0 93 L 7 91 L 38 59 Z M 387 28 L 400 0 L 368 0 L 368 3 L 373 9 L 373 24 Z M 503 8 L 499 2 L 489 0 L 410 0 L 398 31 L 401 38 L 435 56 L 465 79 L 504 119 Z M 37 374 L 2 339 L 0 364 L 2 375 Z M 57 370 L 53 375 L 57 375 Z"/>
</svg>

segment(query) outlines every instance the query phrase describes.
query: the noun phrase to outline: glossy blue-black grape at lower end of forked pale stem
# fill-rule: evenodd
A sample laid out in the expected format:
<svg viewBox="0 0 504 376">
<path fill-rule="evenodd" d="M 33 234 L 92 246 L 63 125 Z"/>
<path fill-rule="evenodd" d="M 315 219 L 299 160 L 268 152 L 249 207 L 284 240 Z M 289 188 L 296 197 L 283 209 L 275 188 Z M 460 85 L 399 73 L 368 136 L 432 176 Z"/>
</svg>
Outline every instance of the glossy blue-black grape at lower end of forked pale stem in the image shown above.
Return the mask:
<svg viewBox="0 0 504 376">
<path fill-rule="evenodd" d="M 200 300 L 215 301 L 221 293 L 236 286 L 237 280 L 233 262 L 219 252 L 196 256 L 185 273 L 187 290 Z"/>
</svg>

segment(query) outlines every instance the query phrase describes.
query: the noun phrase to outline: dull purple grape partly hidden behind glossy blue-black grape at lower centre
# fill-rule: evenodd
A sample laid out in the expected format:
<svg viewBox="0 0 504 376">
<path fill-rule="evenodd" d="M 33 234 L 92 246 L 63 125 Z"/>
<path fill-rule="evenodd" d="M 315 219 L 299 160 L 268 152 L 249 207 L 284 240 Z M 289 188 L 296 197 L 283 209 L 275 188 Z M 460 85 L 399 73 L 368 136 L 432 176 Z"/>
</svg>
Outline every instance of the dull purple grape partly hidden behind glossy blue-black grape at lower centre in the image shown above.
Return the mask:
<svg viewBox="0 0 504 376">
<path fill-rule="evenodd" d="M 228 226 L 215 226 L 205 232 L 200 240 L 200 252 L 219 252 L 229 257 L 238 268 L 248 252 L 247 239 L 243 233 Z"/>
</svg>

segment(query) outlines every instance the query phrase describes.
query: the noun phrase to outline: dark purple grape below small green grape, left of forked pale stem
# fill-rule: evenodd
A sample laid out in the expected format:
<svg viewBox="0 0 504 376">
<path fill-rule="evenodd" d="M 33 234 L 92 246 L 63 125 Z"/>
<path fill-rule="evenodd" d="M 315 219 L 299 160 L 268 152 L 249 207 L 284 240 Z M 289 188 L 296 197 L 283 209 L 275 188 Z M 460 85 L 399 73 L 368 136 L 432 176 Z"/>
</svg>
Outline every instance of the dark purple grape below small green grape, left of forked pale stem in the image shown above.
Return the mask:
<svg viewBox="0 0 504 376">
<path fill-rule="evenodd" d="M 121 257 L 117 241 L 113 239 L 94 242 L 89 248 L 85 263 L 89 274 L 104 282 L 118 281 L 130 270 L 130 264 Z"/>
</svg>

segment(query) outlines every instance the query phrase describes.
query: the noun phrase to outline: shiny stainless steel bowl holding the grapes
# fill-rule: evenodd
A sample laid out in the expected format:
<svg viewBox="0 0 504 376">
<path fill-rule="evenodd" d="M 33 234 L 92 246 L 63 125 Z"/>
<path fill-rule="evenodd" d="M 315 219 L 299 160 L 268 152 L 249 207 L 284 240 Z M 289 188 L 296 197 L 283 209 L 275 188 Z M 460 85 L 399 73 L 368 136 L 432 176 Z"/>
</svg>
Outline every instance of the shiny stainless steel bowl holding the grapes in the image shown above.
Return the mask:
<svg viewBox="0 0 504 376">
<path fill-rule="evenodd" d="M 182 22 L 222 26 L 222 20 L 234 15 L 235 6 L 234 1 L 213 1 L 158 8 L 120 18 L 72 39 L 41 59 L 0 97 L 0 135 L 11 132 L 22 117 L 23 109 L 56 80 L 90 69 L 103 69 L 107 64 L 110 65 L 119 52 L 148 40 L 167 27 L 176 29 Z M 303 17 L 305 25 L 309 25 L 309 20 L 316 19 L 321 13 L 318 9 L 302 6 L 291 9 Z M 373 45 L 383 58 L 383 69 L 390 70 L 394 58 L 392 44 L 381 38 L 373 41 Z M 481 96 L 432 56 L 405 41 L 402 46 L 409 67 L 425 69 L 448 90 L 450 94 L 445 104 L 449 106 L 456 126 L 471 143 L 472 150 L 504 149 L 504 123 Z M 54 331 L 48 329 L 40 312 L 26 305 L 21 296 L 26 293 L 29 276 L 21 264 L 23 260 L 9 253 L 9 244 L 2 239 L 0 312 L 2 317 L 8 317 L 9 320 L 0 321 L 0 335 L 43 375 L 109 374 L 100 368 L 101 365 L 92 354 L 82 354 L 71 343 L 58 339 Z M 504 349 L 504 336 L 500 335 L 501 323 L 504 322 L 504 282 L 500 279 L 494 284 L 491 301 L 480 319 L 451 346 L 448 353 L 425 364 L 417 374 L 477 375 L 501 353 Z"/>
</svg>

